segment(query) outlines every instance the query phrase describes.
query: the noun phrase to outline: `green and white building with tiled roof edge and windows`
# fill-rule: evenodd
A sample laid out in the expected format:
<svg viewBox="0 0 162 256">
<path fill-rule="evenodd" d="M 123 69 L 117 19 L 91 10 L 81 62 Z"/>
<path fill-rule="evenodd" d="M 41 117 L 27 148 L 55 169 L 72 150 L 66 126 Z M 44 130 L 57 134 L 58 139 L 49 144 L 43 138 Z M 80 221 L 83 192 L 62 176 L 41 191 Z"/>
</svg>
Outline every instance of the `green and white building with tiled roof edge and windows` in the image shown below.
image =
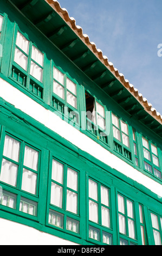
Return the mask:
<svg viewBox="0 0 162 256">
<path fill-rule="evenodd" d="M 0 36 L 1 244 L 161 245 L 160 114 L 57 1 Z"/>
</svg>

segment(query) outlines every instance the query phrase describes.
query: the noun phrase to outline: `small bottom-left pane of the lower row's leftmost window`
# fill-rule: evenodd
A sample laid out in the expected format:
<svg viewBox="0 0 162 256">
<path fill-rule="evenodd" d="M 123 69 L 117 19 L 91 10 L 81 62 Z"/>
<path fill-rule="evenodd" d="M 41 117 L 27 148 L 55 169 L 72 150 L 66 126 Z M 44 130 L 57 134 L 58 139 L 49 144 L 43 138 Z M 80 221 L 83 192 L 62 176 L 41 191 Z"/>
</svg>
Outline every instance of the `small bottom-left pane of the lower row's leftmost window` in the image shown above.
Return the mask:
<svg viewBox="0 0 162 256">
<path fill-rule="evenodd" d="M 8 191 L 0 191 L 0 204 L 16 209 L 16 194 Z"/>
</svg>

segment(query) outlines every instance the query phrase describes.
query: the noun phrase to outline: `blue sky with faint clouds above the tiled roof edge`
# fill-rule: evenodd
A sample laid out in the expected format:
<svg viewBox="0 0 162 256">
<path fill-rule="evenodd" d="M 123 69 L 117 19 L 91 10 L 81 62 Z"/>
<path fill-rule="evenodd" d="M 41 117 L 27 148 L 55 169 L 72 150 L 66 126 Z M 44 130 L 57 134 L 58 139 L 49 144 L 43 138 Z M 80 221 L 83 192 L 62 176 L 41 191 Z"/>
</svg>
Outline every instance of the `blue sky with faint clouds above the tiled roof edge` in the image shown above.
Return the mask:
<svg viewBox="0 0 162 256">
<path fill-rule="evenodd" d="M 83 34 L 162 115 L 162 57 L 158 56 L 158 45 L 162 44 L 162 1 L 58 2 L 82 27 Z"/>
</svg>

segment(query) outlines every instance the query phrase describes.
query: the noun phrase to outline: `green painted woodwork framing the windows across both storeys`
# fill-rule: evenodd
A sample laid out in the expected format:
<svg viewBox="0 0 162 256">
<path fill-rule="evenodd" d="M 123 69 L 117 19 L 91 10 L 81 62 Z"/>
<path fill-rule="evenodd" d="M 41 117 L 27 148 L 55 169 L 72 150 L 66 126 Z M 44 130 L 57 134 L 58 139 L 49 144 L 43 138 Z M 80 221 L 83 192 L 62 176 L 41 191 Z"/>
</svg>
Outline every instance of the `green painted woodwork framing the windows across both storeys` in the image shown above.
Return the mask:
<svg viewBox="0 0 162 256">
<path fill-rule="evenodd" d="M 14 1 L 15 2 L 15 1 Z M 37 2 L 37 1 L 36 1 Z M 41 4 L 43 1 L 40 1 Z M 25 2 L 22 1 L 21 4 Z M 36 4 L 36 3 L 35 3 Z M 40 5 L 41 6 L 41 5 Z M 31 5 L 23 5 L 23 11 L 29 11 Z M 46 6 L 47 7 L 47 6 Z M 40 7 L 39 7 L 40 8 Z M 49 6 L 43 11 L 50 10 Z M 144 155 L 142 151 L 141 137 L 146 137 L 151 143 L 158 147 L 159 168 L 161 172 L 162 166 L 162 154 L 161 154 L 161 137 L 157 135 L 156 130 L 151 130 L 138 120 L 137 115 L 133 115 L 127 112 L 125 107 L 129 100 L 130 95 L 125 89 L 121 88 L 119 81 L 114 81 L 110 72 L 102 70 L 100 68 L 94 56 L 92 56 L 85 45 L 82 45 L 81 49 L 77 49 L 77 42 L 73 38 L 74 34 L 69 33 L 67 26 L 62 26 L 60 18 L 55 13 L 46 15 L 47 19 L 37 19 L 36 13 L 35 25 L 25 19 L 19 11 L 14 9 L 12 5 L 0 4 L 1 15 L 4 16 L 3 26 L 1 31 L 0 44 L 3 45 L 3 58 L 0 57 L 0 77 L 10 83 L 12 86 L 21 90 L 24 94 L 31 97 L 37 103 L 50 111 L 56 111 L 64 121 L 76 127 L 82 133 L 92 138 L 96 143 L 99 143 L 105 149 L 109 150 L 120 159 L 127 162 L 130 166 L 136 168 L 143 174 L 149 176 L 153 180 L 162 184 L 161 179 L 157 176 L 146 172 L 144 169 Z M 53 38 L 53 43 L 48 39 L 48 36 L 44 36 L 42 31 L 45 32 L 46 27 L 44 25 L 43 30 L 38 31 L 38 27 L 47 23 L 49 20 L 57 17 L 60 22 L 60 29 L 55 33 L 50 34 L 50 38 Z M 54 26 L 54 24 L 53 24 Z M 50 27 L 49 27 L 50 28 Z M 34 77 L 30 77 L 29 69 L 24 71 L 19 65 L 14 62 L 15 42 L 17 29 L 30 41 L 30 45 L 34 44 L 44 54 L 43 64 L 43 83 L 38 82 Z M 50 32 L 47 31 L 47 34 Z M 56 35 L 61 35 L 66 32 L 65 39 L 72 38 L 70 44 L 62 44 L 61 50 L 59 49 L 60 41 Z M 67 34 L 67 32 L 69 34 Z M 31 47 L 31 46 L 30 46 Z M 75 50 L 74 50 L 75 49 Z M 80 51 L 80 52 L 78 52 Z M 68 57 L 66 53 L 68 52 Z M 73 54 L 76 54 L 75 58 Z M 85 58 L 89 57 L 86 68 L 81 69 L 85 63 Z M 73 61 L 70 59 L 73 57 Z M 29 62 L 30 62 L 29 54 Z M 76 63 L 80 63 L 77 66 Z M 74 107 L 67 104 L 67 100 L 62 100 L 59 96 L 53 93 L 53 66 L 60 69 L 64 74 L 64 79 L 69 77 L 77 86 L 77 111 Z M 84 72 L 83 72 L 84 71 Z M 100 76 L 98 76 L 98 72 Z M 88 76 L 90 75 L 90 77 Z M 96 76 L 97 75 L 97 76 Z M 109 83 L 107 83 L 107 79 Z M 93 79 L 92 79 L 93 78 Z M 102 86 L 98 86 L 98 82 L 102 81 Z M 113 82 L 112 82 L 113 81 Z M 104 85 L 105 83 L 105 85 Z M 115 90 L 113 90 L 113 87 Z M 66 88 L 66 83 L 64 84 Z M 105 90 L 103 90 L 103 88 Z M 85 91 L 88 92 L 105 108 L 105 121 L 106 121 L 106 133 L 107 136 L 101 136 L 102 129 L 92 132 L 88 131 L 87 122 L 85 116 L 81 113 L 86 110 Z M 116 96 L 125 95 L 124 98 L 118 102 L 115 100 Z M 121 105 L 122 104 L 122 105 Z M 133 105 L 129 105 L 129 110 L 134 111 L 135 102 Z M 67 108 L 68 107 L 68 108 Z M 74 112 L 75 113 L 72 113 Z M 113 126 L 111 113 L 118 115 L 120 120 L 123 120 L 128 125 L 129 131 L 129 143 L 130 148 L 124 147 L 123 143 L 113 138 Z M 76 119 L 75 119 L 76 118 Z M 24 155 L 24 145 L 29 144 L 31 147 L 37 149 L 40 152 L 40 169 L 38 172 L 37 193 L 35 195 L 22 191 L 22 161 L 20 161 L 20 175 L 18 187 L 0 182 L 0 186 L 3 188 L 3 197 L 0 200 L 0 217 L 7 218 L 8 220 L 16 221 L 30 227 L 34 227 L 38 230 L 53 234 L 63 239 L 73 241 L 83 245 L 101 245 L 102 235 L 105 235 L 105 239 L 111 236 L 112 244 L 119 245 L 120 239 L 124 239 L 128 244 L 133 243 L 141 245 L 141 233 L 140 226 L 144 227 L 146 244 L 153 245 L 153 230 L 151 227 L 151 212 L 154 212 L 158 216 L 162 215 L 161 212 L 161 198 L 144 186 L 129 179 L 124 174 L 118 172 L 118 170 L 112 169 L 106 164 L 95 159 L 93 156 L 80 150 L 72 143 L 66 141 L 55 132 L 47 129 L 41 123 L 32 119 L 25 113 L 16 109 L 10 103 L 0 98 L 0 163 L 3 158 L 3 145 L 5 134 L 9 134 L 14 138 L 17 138 L 22 145 L 21 157 Z M 148 120 L 148 123 L 152 122 L 152 119 Z M 133 130 L 135 130 L 135 137 L 133 137 Z M 121 131 L 120 131 L 121 132 Z M 134 153 L 134 144 L 137 148 L 137 153 Z M 125 151 L 125 150 L 127 151 Z M 120 151 L 121 150 L 121 151 Z M 71 167 L 79 173 L 79 204 L 78 214 L 72 214 L 66 210 L 66 208 L 59 208 L 50 204 L 50 188 L 51 188 L 51 161 L 53 159 L 61 161 L 64 166 Z M 137 164 L 138 161 L 138 164 Z M 101 212 L 100 222 L 94 223 L 89 221 L 89 209 L 88 209 L 88 179 L 93 179 L 98 182 L 99 186 L 105 186 L 109 188 L 109 210 L 111 212 L 111 227 L 103 227 L 101 225 Z M 64 181 L 64 205 L 66 205 L 66 181 Z M 134 205 L 134 221 L 135 221 L 135 239 L 130 239 L 128 235 L 119 233 L 119 221 L 118 221 L 118 194 L 121 194 L 124 198 L 128 198 Z M 11 207 L 10 200 L 14 203 Z M 7 203 L 4 203 L 7 202 Z M 28 214 L 20 209 L 20 203 L 31 205 L 34 209 L 34 214 Z M 98 202 L 101 206 L 101 202 Z M 140 223 L 139 217 L 139 204 L 143 209 L 144 223 Z M 84 207 L 83 207 L 84 206 Z M 23 208 L 22 208 L 23 209 Z M 61 218 L 62 223 L 60 227 L 49 223 L 49 212 L 57 218 Z M 69 230 L 67 223 L 77 224 L 77 231 Z M 89 227 L 96 234 L 99 235 L 99 241 L 89 237 Z M 160 230 L 161 232 L 162 230 Z"/>
</svg>

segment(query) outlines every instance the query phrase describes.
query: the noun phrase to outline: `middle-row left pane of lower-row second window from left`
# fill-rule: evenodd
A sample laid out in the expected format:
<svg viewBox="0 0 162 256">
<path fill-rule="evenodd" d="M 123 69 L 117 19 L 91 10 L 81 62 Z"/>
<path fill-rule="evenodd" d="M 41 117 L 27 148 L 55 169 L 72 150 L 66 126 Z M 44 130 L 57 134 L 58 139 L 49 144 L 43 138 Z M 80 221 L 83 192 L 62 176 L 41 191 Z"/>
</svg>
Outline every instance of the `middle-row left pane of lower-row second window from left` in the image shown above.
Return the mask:
<svg viewBox="0 0 162 256">
<path fill-rule="evenodd" d="M 62 187 L 51 182 L 50 203 L 62 208 Z"/>
</svg>

